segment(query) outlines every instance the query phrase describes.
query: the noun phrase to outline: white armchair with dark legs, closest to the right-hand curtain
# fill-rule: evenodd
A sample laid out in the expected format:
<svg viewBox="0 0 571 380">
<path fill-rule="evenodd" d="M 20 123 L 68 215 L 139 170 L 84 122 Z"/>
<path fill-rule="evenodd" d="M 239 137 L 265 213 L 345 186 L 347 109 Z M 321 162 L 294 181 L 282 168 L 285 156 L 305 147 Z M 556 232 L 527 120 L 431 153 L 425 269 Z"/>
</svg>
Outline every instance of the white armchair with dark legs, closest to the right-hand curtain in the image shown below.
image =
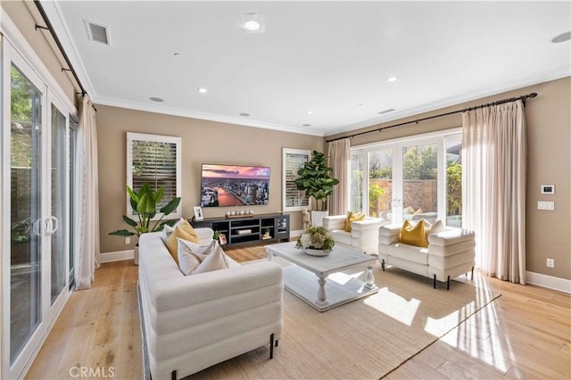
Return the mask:
<svg viewBox="0 0 571 380">
<path fill-rule="evenodd" d="M 428 247 L 403 244 L 399 241 L 401 225 L 382 226 L 378 231 L 378 260 L 383 270 L 386 265 L 416 273 L 421 276 L 446 282 L 450 289 L 450 279 L 472 272 L 474 278 L 474 258 L 476 247 L 473 231 L 447 228 L 428 235 Z"/>
</svg>

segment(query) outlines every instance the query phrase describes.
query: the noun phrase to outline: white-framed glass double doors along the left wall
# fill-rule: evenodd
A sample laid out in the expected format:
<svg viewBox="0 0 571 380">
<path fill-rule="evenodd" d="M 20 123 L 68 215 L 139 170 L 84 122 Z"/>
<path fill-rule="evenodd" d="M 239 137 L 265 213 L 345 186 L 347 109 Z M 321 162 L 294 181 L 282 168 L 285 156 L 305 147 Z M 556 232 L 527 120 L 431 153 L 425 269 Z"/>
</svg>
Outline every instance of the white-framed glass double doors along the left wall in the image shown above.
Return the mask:
<svg viewBox="0 0 571 380">
<path fill-rule="evenodd" d="M 12 45 L 2 49 L 2 302 L 10 318 L 0 377 L 18 378 L 69 295 L 70 111 Z"/>
</svg>

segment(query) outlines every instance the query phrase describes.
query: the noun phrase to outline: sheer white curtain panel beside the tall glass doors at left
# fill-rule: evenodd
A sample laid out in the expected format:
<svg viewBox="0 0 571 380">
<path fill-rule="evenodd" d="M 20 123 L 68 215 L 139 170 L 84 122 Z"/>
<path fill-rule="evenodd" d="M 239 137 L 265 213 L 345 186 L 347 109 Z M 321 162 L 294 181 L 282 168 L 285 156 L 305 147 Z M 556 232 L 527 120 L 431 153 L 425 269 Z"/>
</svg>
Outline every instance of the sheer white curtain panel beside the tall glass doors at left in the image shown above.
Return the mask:
<svg viewBox="0 0 571 380">
<path fill-rule="evenodd" d="M 77 289 L 88 289 L 99 268 L 99 181 L 95 109 L 83 95 L 79 109 L 76 178 L 77 215 L 75 278 Z"/>
</svg>

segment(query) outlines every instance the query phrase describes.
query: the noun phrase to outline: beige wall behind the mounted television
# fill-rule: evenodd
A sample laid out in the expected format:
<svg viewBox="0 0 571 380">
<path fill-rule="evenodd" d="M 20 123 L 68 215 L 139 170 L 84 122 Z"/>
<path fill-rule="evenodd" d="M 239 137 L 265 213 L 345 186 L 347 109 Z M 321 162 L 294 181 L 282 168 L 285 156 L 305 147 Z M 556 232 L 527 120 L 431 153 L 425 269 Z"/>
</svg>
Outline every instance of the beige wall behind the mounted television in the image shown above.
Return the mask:
<svg viewBox="0 0 571 380">
<path fill-rule="evenodd" d="M 127 201 L 127 132 L 182 138 L 182 213 L 192 218 L 200 204 L 201 163 L 263 165 L 271 167 L 269 205 L 249 206 L 257 214 L 282 210 L 282 147 L 323 151 L 323 137 L 262 128 L 243 127 L 207 120 L 188 119 L 153 112 L 96 105 L 99 153 L 99 218 L 101 252 L 132 249 L 134 243 L 110 236 L 126 227 L 121 216 Z M 224 216 L 234 208 L 204 208 L 205 218 Z M 292 229 L 302 229 L 300 212 L 291 215 Z M 132 239 L 136 240 L 136 239 Z"/>
</svg>

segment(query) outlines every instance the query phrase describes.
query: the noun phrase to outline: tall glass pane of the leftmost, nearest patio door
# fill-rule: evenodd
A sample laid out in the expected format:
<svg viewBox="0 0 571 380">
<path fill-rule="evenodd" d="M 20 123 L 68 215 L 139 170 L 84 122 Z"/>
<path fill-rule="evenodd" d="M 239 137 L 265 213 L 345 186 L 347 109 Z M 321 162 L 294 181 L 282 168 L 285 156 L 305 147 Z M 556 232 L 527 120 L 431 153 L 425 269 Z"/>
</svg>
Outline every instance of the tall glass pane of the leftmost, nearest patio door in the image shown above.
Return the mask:
<svg viewBox="0 0 571 380">
<path fill-rule="evenodd" d="M 10 122 L 10 363 L 42 321 L 42 92 L 12 64 Z M 5 178 L 5 177 L 4 177 Z M 4 272 L 5 273 L 5 272 Z M 5 288 L 4 288 L 5 289 Z"/>
</svg>

